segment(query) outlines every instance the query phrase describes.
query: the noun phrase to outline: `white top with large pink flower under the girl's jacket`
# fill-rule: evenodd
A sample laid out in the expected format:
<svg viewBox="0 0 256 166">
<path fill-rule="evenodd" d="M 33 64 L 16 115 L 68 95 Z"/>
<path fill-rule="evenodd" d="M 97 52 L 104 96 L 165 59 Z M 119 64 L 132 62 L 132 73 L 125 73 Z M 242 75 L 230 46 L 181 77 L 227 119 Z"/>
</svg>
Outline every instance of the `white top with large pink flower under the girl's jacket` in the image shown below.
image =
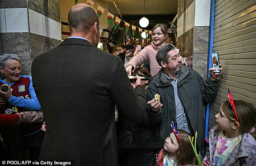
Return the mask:
<svg viewBox="0 0 256 166">
<path fill-rule="evenodd" d="M 212 165 L 222 166 L 229 158 L 231 151 L 241 141 L 242 135 L 235 138 L 227 138 L 223 134 L 223 131 L 218 131 L 218 139 L 215 145 L 215 151 L 213 155 Z"/>
</svg>

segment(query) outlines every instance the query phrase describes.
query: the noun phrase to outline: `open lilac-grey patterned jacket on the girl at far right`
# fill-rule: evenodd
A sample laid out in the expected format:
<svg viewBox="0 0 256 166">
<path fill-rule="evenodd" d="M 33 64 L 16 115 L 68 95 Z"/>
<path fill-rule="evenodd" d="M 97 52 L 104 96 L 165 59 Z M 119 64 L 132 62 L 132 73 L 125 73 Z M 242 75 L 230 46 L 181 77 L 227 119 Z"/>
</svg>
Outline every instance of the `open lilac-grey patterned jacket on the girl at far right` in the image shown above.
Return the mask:
<svg viewBox="0 0 256 166">
<path fill-rule="evenodd" d="M 218 131 L 219 129 L 213 127 L 210 130 L 209 136 L 209 147 L 206 149 L 206 156 L 203 160 L 208 160 L 215 166 L 213 163 L 214 152 L 216 151 L 216 143 L 218 140 Z M 256 141 L 250 133 L 243 133 L 242 139 L 231 154 L 227 158 L 223 166 L 255 166 L 256 165 Z"/>
</svg>

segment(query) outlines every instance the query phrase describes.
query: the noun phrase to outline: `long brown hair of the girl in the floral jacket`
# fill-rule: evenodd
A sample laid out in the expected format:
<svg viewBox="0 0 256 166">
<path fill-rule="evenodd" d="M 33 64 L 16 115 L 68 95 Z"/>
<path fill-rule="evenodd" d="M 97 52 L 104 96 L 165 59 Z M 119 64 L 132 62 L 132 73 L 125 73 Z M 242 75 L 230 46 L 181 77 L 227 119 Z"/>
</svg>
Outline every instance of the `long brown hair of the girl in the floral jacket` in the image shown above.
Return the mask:
<svg viewBox="0 0 256 166">
<path fill-rule="evenodd" d="M 256 109 L 252 104 L 244 102 L 243 100 L 234 100 L 234 105 L 240 125 L 237 129 L 237 133 L 246 133 L 252 127 L 256 126 Z M 222 111 L 227 118 L 237 121 L 235 118 L 235 112 L 233 111 L 229 101 L 225 101 L 222 104 Z"/>
</svg>

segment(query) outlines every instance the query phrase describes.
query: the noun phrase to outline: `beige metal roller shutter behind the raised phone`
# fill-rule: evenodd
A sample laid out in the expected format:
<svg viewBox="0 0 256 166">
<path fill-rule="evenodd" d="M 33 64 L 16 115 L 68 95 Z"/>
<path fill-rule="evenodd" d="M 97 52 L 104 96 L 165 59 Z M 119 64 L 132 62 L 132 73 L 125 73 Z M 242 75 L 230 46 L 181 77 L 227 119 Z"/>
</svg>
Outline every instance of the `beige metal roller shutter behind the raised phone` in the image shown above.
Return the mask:
<svg viewBox="0 0 256 166">
<path fill-rule="evenodd" d="M 218 95 L 210 104 L 210 130 L 215 115 L 227 100 L 230 87 L 233 98 L 256 106 L 256 1 L 216 0 L 213 52 L 223 64 Z"/>
</svg>

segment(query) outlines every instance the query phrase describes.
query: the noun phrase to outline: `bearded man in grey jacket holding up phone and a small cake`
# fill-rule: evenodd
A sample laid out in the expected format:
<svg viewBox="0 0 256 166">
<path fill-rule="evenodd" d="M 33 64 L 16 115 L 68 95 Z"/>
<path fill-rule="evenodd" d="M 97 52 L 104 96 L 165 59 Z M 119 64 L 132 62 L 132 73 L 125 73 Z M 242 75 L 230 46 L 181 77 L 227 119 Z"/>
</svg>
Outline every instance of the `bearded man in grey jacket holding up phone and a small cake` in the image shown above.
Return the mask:
<svg viewBox="0 0 256 166">
<path fill-rule="evenodd" d="M 149 119 L 160 123 L 157 128 L 157 141 L 164 143 L 172 131 L 170 124 L 173 120 L 177 129 L 183 129 L 191 135 L 195 135 L 197 131 L 197 145 L 199 150 L 204 149 L 203 104 L 215 99 L 219 84 L 217 78 L 222 74 L 222 68 L 221 73 L 213 73 L 216 69 L 210 68 L 210 77 L 204 82 L 196 71 L 181 64 L 179 53 L 170 44 L 159 49 L 156 60 L 162 69 L 149 84 L 147 98 L 152 100 L 156 93 L 160 95 L 160 103 L 148 102 Z"/>
</svg>

